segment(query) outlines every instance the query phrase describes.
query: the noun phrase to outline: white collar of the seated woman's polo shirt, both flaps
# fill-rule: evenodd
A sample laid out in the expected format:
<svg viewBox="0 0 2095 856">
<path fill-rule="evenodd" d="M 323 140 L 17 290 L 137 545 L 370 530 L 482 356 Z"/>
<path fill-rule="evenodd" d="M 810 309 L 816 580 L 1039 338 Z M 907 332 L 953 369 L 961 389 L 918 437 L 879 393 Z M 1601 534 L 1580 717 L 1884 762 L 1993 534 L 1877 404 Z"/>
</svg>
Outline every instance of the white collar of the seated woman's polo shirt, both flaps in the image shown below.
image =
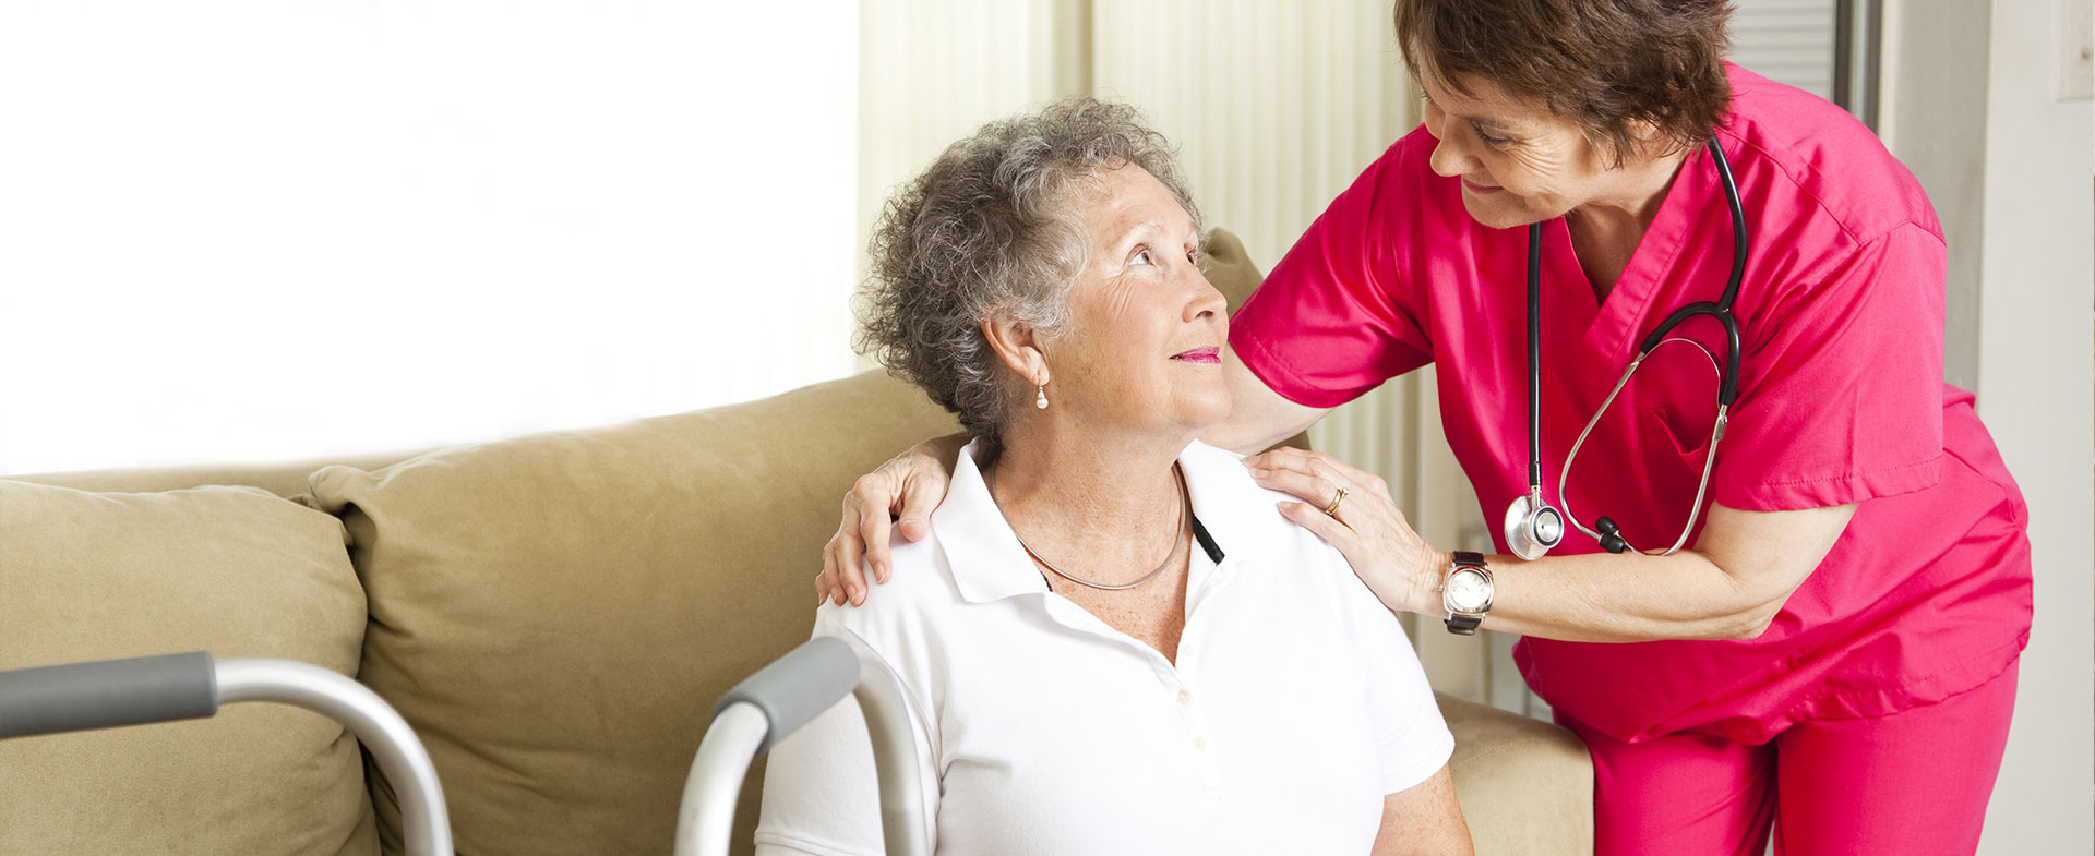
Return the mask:
<svg viewBox="0 0 2095 856">
<path fill-rule="evenodd" d="M 983 442 L 970 442 L 953 465 L 953 481 L 930 525 L 951 567 L 953 584 L 968 603 L 987 603 L 1016 594 L 1043 594 L 1048 586 L 1033 567 L 1018 534 L 1004 511 L 989 498 L 989 483 L 974 454 Z M 1270 553 L 1295 525 L 1280 517 L 1284 496 L 1259 488 L 1242 456 L 1200 442 L 1179 452 L 1192 513 L 1221 546 L 1223 561 L 1242 561 Z M 1194 544 L 1198 548 L 1198 544 Z"/>
</svg>

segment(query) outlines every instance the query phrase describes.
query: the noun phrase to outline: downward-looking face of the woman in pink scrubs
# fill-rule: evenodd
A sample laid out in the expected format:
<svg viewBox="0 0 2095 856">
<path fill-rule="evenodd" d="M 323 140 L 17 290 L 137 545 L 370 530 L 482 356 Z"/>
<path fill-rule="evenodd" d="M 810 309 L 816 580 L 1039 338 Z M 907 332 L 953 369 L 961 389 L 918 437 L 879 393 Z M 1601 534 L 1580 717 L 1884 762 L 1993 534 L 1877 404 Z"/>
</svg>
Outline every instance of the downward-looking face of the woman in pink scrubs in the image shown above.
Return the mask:
<svg viewBox="0 0 2095 856">
<path fill-rule="evenodd" d="M 1575 123 L 1490 80 L 1469 84 L 1462 94 L 1439 75 L 1420 75 L 1427 132 L 1439 140 L 1433 172 L 1462 178 L 1462 207 L 1479 224 L 1527 226 L 1615 195 L 1632 201 L 1622 170 L 1609 170 Z"/>
</svg>

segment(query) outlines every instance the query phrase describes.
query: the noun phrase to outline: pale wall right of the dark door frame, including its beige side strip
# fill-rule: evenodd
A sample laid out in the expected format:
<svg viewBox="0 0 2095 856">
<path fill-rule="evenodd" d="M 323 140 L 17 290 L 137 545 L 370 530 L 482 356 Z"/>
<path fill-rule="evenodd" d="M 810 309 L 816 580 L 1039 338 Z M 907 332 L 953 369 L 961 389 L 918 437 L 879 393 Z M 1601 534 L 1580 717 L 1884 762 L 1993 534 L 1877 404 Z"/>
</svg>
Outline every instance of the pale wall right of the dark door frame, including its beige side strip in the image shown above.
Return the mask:
<svg viewBox="0 0 2095 856">
<path fill-rule="evenodd" d="M 2061 27 L 2070 4 L 2089 0 L 1883 17 L 1881 136 L 1950 241 L 1944 370 L 2030 500 L 2036 624 L 1982 854 L 2095 850 L 2095 126 L 2059 96 L 2059 42 L 2087 36 Z"/>
</svg>

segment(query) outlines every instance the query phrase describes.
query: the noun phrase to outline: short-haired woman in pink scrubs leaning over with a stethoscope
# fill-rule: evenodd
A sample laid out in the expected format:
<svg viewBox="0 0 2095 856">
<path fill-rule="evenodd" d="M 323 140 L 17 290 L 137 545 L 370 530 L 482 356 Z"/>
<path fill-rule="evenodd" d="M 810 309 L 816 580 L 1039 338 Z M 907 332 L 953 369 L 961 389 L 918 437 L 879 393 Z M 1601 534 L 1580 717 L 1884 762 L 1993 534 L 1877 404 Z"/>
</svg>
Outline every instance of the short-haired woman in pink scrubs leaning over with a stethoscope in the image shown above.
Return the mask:
<svg viewBox="0 0 2095 856">
<path fill-rule="evenodd" d="M 1592 749 L 1601 854 L 1760 854 L 1770 829 L 1783 854 L 1971 852 L 2030 630 L 2026 506 L 1971 396 L 1942 383 L 1944 243 L 1921 186 L 1837 107 L 1724 63 L 1726 15 L 1399 0 L 1427 121 L 1236 314 L 1236 412 L 1203 440 L 1261 450 L 1431 364 L 1498 521 L 1529 492 L 1540 224 L 1542 500 L 1684 548 L 1573 532 L 1534 561 L 1450 555 L 1374 475 L 1299 450 L 1244 463 L 1391 609 L 1525 636 L 1529 686 Z M 1603 402 L 1661 320 L 1726 291 L 1712 140 L 1749 243 L 1739 393 L 1703 494 L 1733 356 L 1716 320 L 1680 324 Z M 863 601 L 861 546 L 884 573 L 880 511 L 920 534 L 941 452 L 861 479 L 825 594 Z"/>
</svg>

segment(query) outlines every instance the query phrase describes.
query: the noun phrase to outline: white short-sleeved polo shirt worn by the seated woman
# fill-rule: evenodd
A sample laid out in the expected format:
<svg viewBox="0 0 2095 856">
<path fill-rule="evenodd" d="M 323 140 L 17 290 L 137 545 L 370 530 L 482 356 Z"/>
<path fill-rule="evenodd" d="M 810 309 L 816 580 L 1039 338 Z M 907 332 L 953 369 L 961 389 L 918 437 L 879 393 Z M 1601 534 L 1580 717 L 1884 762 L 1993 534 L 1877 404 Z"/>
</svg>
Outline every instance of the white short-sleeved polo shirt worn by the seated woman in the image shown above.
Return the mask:
<svg viewBox="0 0 2095 856">
<path fill-rule="evenodd" d="M 815 615 L 901 678 L 939 852 L 1366 854 L 1383 795 L 1448 762 L 1397 620 L 1236 454 L 1179 456 L 1203 538 L 1173 668 L 1050 592 L 976 450 L 890 582 Z M 756 852 L 882 852 L 855 701 L 771 751 Z"/>
</svg>

